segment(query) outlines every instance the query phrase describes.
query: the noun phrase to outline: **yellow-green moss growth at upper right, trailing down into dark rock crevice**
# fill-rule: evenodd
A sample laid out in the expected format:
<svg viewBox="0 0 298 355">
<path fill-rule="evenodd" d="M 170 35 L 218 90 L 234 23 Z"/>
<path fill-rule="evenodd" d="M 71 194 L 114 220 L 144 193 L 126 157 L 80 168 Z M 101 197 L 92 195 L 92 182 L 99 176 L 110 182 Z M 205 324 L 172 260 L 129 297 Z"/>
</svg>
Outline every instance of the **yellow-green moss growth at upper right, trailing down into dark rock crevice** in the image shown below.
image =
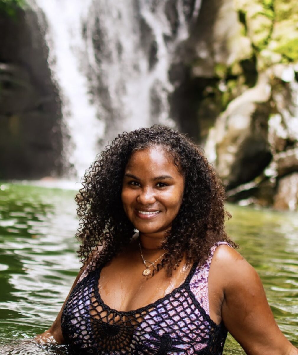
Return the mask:
<svg viewBox="0 0 298 355">
<path fill-rule="evenodd" d="M 215 93 L 220 111 L 253 87 L 258 73 L 276 64 L 298 62 L 297 0 L 234 0 L 234 8 L 240 24 L 238 43 L 244 50 L 231 64 L 214 65 L 218 80 L 209 92 Z"/>
</svg>

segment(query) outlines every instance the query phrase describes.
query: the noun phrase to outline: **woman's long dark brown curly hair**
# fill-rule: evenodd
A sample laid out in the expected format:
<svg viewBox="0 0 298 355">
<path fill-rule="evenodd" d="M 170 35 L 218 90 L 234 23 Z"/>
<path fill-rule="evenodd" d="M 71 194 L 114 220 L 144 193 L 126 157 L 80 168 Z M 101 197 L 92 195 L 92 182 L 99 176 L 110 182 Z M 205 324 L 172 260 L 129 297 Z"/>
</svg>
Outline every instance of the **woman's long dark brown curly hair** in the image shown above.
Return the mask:
<svg viewBox="0 0 298 355">
<path fill-rule="evenodd" d="M 162 248 L 167 252 L 157 270 L 165 268 L 172 275 L 184 255 L 189 264 L 203 263 L 217 241 L 236 247 L 225 232 L 229 214 L 224 208 L 224 188 L 202 149 L 182 133 L 154 125 L 118 135 L 86 170 L 75 198 L 80 218 L 78 255 L 83 263 L 102 246 L 98 262 L 105 264 L 131 242 L 135 229 L 121 201 L 124 170 L 131 154 L 152 146 L 166 149 L 185 178 L 181 207 L 165 235 Z"/>
</svg>

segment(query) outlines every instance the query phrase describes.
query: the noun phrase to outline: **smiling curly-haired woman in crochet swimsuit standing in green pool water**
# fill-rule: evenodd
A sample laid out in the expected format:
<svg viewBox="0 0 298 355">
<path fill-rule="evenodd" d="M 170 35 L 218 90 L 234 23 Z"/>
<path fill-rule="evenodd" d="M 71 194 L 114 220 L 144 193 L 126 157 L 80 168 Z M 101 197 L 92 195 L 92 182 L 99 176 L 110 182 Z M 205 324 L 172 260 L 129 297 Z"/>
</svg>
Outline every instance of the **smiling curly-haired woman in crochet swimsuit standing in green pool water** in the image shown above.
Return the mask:
<svg viewBox="0 0 298 355">
<path fill-rule="evenodd" d="M 79 354 L 297 355 L 260 279 L 224 230 L 224 190 L 185 136 L 119 135 L 77 196 L 81 272 L 39 341 Z M 135 233 L 138 230 L 138 233 Z"/>
</svg>

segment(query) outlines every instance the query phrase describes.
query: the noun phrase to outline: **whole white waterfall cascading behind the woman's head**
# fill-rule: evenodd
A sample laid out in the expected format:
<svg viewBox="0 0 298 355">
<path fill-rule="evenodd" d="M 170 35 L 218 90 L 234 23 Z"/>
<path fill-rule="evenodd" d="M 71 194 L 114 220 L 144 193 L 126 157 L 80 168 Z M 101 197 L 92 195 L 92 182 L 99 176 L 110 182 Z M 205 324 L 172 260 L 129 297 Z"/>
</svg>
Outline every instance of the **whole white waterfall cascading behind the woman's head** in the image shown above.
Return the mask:
<svg viewBox="0 0 298 355">
<path fill-rule="evenodd" d="M 168 72 L 201 1 L 35 1 L 78 176 L 117 133 L 175 125 Z"/>
</svg>

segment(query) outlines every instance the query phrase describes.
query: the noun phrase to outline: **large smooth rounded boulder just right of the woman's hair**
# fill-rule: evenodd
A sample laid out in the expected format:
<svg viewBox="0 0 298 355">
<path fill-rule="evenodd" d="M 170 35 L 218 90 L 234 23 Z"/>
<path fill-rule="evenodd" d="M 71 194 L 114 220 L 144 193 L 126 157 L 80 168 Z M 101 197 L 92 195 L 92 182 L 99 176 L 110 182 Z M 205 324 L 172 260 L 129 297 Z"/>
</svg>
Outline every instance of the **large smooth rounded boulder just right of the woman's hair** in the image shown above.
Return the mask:
<svg viewBox="0 0 298 355">
<path fill-rule="evenodd" d="M 231 101 L 209 132 L 205 152 L 227 189 L 254 179 L 271 160 L 269 107 L 262 104 L 269 96 L 268 82 L 260 77 L 257 86 Z"/>
</svg>

